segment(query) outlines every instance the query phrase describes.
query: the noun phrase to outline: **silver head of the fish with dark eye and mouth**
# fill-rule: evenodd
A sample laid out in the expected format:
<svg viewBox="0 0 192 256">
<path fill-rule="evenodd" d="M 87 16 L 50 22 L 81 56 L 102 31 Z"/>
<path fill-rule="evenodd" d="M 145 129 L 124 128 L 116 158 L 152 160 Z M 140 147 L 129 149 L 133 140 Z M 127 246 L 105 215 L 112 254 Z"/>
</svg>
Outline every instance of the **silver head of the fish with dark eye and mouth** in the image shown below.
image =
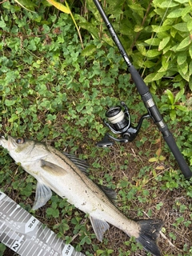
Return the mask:
<svg viewBox="0 0 192 256">
<path fill-rule="evenodd" d="M 22 159 L 26 158 L 33 151 L 34 141 L 11 136 L 8 136 L 6 140 L 6 138 L 1 137 L 0 146 L 8 150 L 11 158 L 14 158 L 16 162 L 22 162 Z"/>
</svg>

